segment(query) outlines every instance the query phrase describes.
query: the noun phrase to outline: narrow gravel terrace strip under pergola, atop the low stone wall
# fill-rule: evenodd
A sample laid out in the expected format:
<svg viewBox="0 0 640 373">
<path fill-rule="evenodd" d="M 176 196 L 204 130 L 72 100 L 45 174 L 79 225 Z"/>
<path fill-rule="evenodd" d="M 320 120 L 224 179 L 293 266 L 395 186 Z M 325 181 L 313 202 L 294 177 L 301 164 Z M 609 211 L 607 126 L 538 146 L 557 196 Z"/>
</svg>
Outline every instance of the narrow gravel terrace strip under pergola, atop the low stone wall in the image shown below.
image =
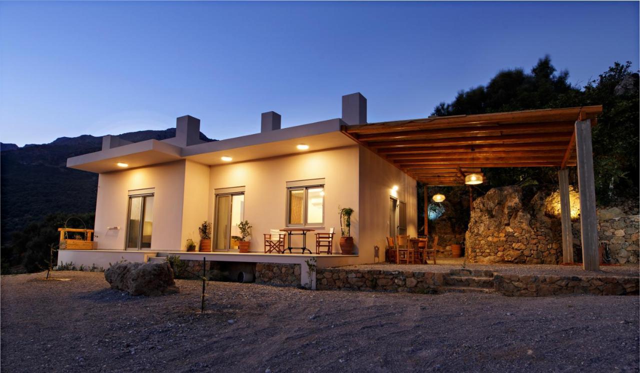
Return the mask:
<svg viewBox="0 0 640 373">
<path fill-rule="evenodd" d="M 344 266 L 348 269 L 380 269 L 382 271 L 423 271 L 449 272 L 450 269 L 462 268 L 464 258 L 437 258 L 433 264 L 358 264 Z M 558 266 L 557 264 L 467 264 L 470 269 L 490 269 L 500 274 L 538 274 L 540 276 L 640 276 L 638 264 L 623 264 L 621 266 L 600 266 L 600 271 L 584 271 L 582 266 Z"/>
</svg>

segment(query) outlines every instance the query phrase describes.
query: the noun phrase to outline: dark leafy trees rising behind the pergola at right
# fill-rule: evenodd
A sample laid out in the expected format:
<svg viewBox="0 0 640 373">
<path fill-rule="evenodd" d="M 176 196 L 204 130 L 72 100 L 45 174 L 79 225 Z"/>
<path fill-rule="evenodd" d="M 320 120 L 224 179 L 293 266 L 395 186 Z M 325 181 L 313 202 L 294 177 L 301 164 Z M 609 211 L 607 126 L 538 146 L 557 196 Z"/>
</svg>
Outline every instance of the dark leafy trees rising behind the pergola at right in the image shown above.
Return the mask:
<svg viewBox="0 0 640 373">
<path fill-rule="evenodd" d="M 593 129 L 596 197 L 599 203 L 635 198 L 639 176 L 639 93 L 638 74 L 632 74 L 630 67 L 630 62 L 624 65 L 616 62 L 597 80 L 580 89 L 568 83 L 568 71 L 556 73 L 550 57 L 545 56 L 531 73 L 521 68 L 502 70 L 486 86 L 460 91 L 450 104 L 438 104 L 433 115 L 602 105 L 603 113 Z M 489 180 L 483 188 L 557 184 L 554 168 L 486 168 L 483 172 Z M 572 179 L 575 182 L 575 175 Z"/>
</svg>

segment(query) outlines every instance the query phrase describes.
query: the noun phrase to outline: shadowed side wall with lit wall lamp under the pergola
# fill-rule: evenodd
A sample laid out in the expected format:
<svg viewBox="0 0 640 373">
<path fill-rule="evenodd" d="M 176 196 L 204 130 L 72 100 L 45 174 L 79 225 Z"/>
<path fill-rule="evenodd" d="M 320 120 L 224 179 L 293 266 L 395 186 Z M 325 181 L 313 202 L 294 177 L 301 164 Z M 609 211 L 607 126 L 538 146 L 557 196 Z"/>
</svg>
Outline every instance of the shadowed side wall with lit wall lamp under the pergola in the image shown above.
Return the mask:
<svg viewBox="0 0 640 373">
<path fill-rule="evenodd" d="M 415 180 L 374 154 L 359 147 L 360 154 L 360 263 L 384 262 L 389 234 L 389 199 L 406 203 L 407 234 L 417 237 L 418 210 Z M 393 187 L 398 186 L 397 191 Z M 380 248 L 374 258 L 374 246 Z"/>
</svg>

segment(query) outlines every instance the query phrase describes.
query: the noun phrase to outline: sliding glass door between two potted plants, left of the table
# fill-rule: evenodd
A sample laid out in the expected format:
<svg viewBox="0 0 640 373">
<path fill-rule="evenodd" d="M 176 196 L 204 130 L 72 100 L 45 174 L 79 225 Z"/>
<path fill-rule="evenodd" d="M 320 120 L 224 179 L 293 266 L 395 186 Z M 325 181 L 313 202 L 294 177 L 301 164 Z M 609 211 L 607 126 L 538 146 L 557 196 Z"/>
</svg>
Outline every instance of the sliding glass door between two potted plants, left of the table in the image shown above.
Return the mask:
<svg viewBox="0 0 640 373">
<path fill-rule="evenodd" d="M 216 195 L 214 250 L 237 249 L 236 237 L 240 236 L 237 224 L 243 220 L 244 193 Z"/>
</svg>

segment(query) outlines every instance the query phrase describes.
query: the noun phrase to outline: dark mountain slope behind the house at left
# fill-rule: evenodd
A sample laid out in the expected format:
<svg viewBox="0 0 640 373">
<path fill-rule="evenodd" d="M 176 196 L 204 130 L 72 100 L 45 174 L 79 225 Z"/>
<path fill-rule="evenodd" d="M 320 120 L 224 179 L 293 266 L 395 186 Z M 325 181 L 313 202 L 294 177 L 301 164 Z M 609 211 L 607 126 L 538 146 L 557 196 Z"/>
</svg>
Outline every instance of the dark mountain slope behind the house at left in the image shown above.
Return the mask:
<svg viewBox="0 0 640 373">
<path fill-rule="evenodd" d="M 163 140 L 175 137 L 175 128 L 118 135 L 127 141 Z M 209 139 L 200 132 L 200 139 Z M 97 152 L 102 137 L 81 135 L 57 138 L 51 143 L 20 148 L 1 143 L 0 239 L 54 212 L 83 214 L 95 210 L 98 175 L 67 168 L 67 158 Z"/>
</svg>

